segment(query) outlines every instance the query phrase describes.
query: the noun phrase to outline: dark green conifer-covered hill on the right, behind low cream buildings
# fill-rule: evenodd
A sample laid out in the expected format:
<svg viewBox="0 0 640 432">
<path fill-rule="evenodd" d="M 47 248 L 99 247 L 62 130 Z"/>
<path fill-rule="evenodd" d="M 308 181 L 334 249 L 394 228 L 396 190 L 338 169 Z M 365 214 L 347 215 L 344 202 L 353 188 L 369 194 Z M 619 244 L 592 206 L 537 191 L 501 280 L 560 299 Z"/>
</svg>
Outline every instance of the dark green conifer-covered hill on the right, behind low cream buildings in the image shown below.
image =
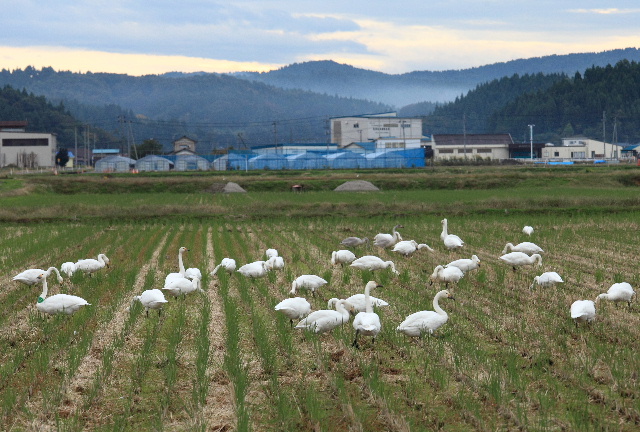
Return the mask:
<svg viewBox="0 0 640 432">
<path fill-rule="evenodd" d="M 517 133 L 535 124 L 539 140 L 577 134 L 601 140 L 603 113 L 608 142 L 640 142 L 640 63 L 592 67 L 547 90 L 521 95 L 496 110 L 487 129 Z"/>
</svg>

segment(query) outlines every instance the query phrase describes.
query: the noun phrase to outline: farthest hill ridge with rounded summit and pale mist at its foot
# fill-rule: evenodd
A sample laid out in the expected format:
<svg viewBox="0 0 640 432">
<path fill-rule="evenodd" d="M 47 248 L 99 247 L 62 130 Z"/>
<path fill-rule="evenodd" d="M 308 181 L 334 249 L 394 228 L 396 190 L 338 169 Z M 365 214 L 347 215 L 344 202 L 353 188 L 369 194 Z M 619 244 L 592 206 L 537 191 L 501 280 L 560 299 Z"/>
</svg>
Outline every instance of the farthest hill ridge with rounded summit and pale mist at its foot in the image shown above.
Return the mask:
<svg viewBox="0 0 640 432">
<path fill-rule="evenodd" d="M 368 99 L 399 108 L 425 101 L 450 102 L 478 84 L 514 74 L 565 73 L 572 76 L 589 67 L 616 64 L 623 59 L 640 61 L 640 50 L 627 48 L 599 53 L 551 55 L 471 69 L 415 71 L 399 75 L 358 69 L 333 61 L 295 63 L 270 72 L 235 75 L 282 88 Z"/>
</svg>

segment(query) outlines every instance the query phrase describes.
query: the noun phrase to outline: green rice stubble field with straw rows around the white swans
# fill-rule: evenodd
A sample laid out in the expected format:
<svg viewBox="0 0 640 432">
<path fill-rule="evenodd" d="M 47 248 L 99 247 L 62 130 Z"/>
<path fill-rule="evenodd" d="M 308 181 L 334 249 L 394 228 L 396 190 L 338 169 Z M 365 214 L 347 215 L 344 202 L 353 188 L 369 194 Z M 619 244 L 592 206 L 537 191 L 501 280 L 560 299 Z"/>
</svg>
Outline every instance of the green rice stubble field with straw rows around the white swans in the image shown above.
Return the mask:
<svg viewBox="0 0 640 432">
<path fill-rule="evenodd" d="M 62 194 L 33 186 L 40 178 L 7 179 L 0 430 L 637 431 L 640 307 L 635 298 L 631 307 L 601 301 L 595 321 L 580 325 L 569 308 L 615 282 L 640 286 L 640 190 L 587 177 L 549 187 L 233 195 Z M 462 250 L 444 248 L 444 217 Z M 404 258 L 371 244 L 353 249 L 392 260 L 399 275 L 331 266 L 345 237 L 372 238 L 397 224 L 405 240 L 434 251 Z M 534 227 L 530 237 L 525 225 Z M 507 242 L 523 241 L 544 249 L 542 267 L 513 271 L 499 260 Z M 162 288 L 181 246 L 185 266 L 202 271 L 204 292 L 167 296 L 162 314 L 147 318 L 132 299 Z M 267 248 L 279 251 L 283 270 L 209 275 L 224 257 L 242 265 Z M 99 253 L 111 266 L 94 277 L 48 278 L 49 295 L 91 303 L 73 315 L 41 315 L 41 286 L 12 281 Z M 455 301 L 440 302 L 449 320 L 437 337 L 396 332 L 407 315 L 433 310 L 444 289 L 429 285 L 434 267 L 472 254 L 481 266 L 449 285 Z M 545 271 L 565 282 L 529 289 Z M 383 285 L 372 293 L 389 302 L 377 309 L 375 342 L 352 347 L 351 322 L 321 335 L 292 329 L 274 306 L 303 274 L 329 282 L 315 296 L 300 293 L 313 310 L 363 292 L 369 280 Z"/>
</svg>

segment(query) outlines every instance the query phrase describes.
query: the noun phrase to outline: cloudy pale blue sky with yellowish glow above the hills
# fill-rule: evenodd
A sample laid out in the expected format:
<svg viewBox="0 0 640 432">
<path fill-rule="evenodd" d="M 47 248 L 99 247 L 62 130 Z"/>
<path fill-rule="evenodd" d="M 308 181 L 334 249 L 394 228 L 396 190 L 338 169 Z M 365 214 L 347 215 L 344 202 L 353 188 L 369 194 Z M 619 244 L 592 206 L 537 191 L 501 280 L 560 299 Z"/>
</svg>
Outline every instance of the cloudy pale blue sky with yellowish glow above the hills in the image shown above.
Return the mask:
<svg viewBox="0 0 640 432">
<path fill-rule="evenodd" d="M 129 75 L 335 60 L 386 73 L 640 47 L 640 2 L 0 0 L 0 68 Z"/>
</svg>

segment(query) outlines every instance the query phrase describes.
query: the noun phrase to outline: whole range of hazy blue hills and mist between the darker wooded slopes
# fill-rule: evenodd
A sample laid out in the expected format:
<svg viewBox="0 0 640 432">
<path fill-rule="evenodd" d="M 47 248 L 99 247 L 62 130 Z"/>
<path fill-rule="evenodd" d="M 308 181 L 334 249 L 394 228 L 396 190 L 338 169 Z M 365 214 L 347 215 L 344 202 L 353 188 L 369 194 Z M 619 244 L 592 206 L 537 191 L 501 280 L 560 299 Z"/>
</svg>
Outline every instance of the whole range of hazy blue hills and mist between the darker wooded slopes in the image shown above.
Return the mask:
<svg viewBox="0 0 640 432">
<path fill-rule="evenodd" d="M 154 138 L 169 148 L 173 140 L 187 135 L 198 141 L 199 151 L 208 153 L 277 142 L 326 142 L 330 117 L 394 109 L 401 115 L 426 116 L 438 105 L 441 109 L 434 120 L 425 122 L 426 133 L 457 132 L 456 122 L 464 112 L 469 113 L 470 127 L 490 132 L 487 119 L 501 108 L 498 101 L 505 105 L 528 91 L 544 91 L 562 76 L 622 59 L 640 61 L 640 50 L 552 55 L 399 75 L 333 61 L 297 63 L 265 73 L 174 72 L 142 77 L 27 67 L 0 71 L 0 86 L 63 104 L 79 121 L 116 138 L 130 133 L 124 130 L 124 119 L 138 141 Z M 553 76 L 546 79 L 540 74 Z M 448 108 L 454 102 L 458 105 Z"/>
</svg>

